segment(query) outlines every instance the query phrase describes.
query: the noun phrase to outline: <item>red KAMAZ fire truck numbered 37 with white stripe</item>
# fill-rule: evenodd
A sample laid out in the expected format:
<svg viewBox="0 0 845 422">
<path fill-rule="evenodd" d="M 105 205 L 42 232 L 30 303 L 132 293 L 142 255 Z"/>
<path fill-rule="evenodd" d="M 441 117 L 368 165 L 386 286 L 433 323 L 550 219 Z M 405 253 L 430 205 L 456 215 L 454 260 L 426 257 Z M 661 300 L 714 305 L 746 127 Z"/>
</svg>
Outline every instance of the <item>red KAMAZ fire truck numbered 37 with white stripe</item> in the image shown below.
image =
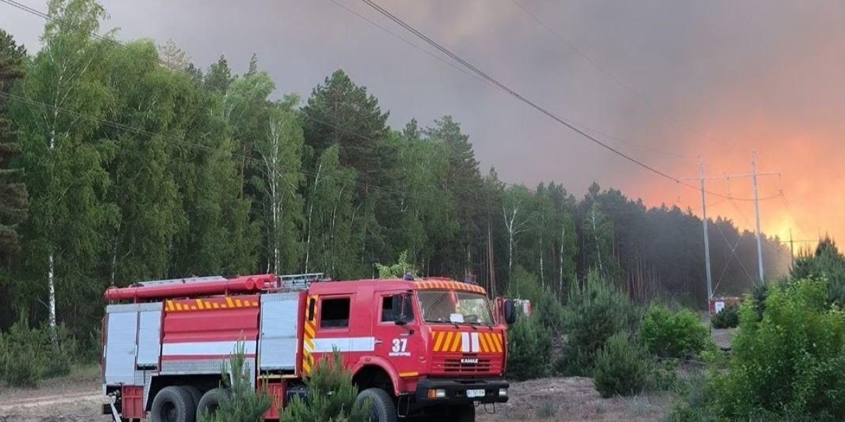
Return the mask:
<svg viewBox="0 0 845 422">
<path fill-rule="evenodd" d="M 214 411 L 221 364 L 243 347 L 254 386 L 283 408 L 304 397 L 314 365 L 334 350 L 353 373 L 371 420 L 472 421 L 475 406 L 508 400 L 506 325 L 512 301 L 491 305 L 450 279 L 328 281 L 322 274 L 204 277 L 106 290 L 103 408 L 115 421 L 194 422 Z M 278 419 L 274 404 L 266 419 Z"/>
</svg>

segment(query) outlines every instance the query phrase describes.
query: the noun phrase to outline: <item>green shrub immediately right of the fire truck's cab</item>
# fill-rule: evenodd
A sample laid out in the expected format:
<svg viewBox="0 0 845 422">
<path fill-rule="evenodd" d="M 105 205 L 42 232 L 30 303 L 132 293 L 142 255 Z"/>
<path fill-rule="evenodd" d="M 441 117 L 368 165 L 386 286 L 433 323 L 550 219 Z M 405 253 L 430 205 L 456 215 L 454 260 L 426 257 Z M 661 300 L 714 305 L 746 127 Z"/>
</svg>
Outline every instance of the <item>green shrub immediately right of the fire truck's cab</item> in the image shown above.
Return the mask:
<svg viewBox="0 0 845 422">
<path fill-rule="evenodd" d="M 537 316 L 519 318 L 508 330 L 508 377 L 522 381 L 548 375 L 551 335 Z"/>
</svg>

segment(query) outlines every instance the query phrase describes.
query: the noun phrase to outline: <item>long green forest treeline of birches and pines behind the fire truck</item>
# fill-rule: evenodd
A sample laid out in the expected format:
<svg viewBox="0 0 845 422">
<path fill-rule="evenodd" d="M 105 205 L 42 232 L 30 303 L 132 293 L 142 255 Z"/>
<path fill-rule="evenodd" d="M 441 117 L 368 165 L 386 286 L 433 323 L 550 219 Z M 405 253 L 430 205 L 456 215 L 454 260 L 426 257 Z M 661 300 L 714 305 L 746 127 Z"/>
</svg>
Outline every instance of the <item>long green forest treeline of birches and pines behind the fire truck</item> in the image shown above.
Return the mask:
<svg viewBox="0 0 845 422">
<path fill-rule="evenodd" d="M 86 335 L 109 285 L 190 275 L 422 275 L 558 295 L 591 269 L 635 298 L 703 306 L 701 219 L 593 184 L 529 189 L 482 168 L 460 122 L 390 127 L 337 70 L 307 98 L 256 57 L 235 74 L 168 42 L 116 41 L 95 0 L 52 0 L 37 51 L 0 31 L 0 328 L 21 315 Z M 753 234 L 711 225 L 717 292 L 755 278 Z M 735 252 L 732 253 L 732 252 Z M 739 257 L 739 258 L 738 258 Z M 789 254 L 766 238 L 768 274 Z M 715 282 L 716 280 L 714 280 Z M 55 310 L 54 313 L 51 310 Z"/>
</svg>

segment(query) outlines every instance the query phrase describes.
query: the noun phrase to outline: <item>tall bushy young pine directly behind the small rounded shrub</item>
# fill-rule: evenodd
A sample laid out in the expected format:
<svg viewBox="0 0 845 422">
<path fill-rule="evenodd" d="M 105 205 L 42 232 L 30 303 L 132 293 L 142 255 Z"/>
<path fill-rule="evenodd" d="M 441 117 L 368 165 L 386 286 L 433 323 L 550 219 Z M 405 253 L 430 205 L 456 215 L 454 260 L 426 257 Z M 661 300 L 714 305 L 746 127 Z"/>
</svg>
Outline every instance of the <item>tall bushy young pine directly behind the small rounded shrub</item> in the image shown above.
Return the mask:
<svg viewBox="0 0 845 422">
<path fill-rule="evenodd" d="M 564 375 L 589 376 L 596 355 L 615 333 L 636 333 L 641 311 L 628 295 L 602 279 L 598 273 L 587 276 L 583 286 L 570 289 L 564 308 L 567 335 L 558 368 Z"/>
</svg>

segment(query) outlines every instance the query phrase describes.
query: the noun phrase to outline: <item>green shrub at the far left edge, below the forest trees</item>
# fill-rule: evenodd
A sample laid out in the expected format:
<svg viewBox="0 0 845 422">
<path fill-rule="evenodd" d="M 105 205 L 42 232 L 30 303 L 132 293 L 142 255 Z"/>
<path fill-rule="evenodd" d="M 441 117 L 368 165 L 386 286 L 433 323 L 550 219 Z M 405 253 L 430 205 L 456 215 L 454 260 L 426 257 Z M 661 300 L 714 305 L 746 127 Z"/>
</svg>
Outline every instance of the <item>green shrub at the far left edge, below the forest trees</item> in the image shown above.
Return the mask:
<svg viewBox="0 0 845 422">
<path fill-rule="evenodd" d="M 0 336 L 0 376 L 10 387 L 38 387 L 47 363 L 46 335 L 25 317 Z"/>
</svg>

